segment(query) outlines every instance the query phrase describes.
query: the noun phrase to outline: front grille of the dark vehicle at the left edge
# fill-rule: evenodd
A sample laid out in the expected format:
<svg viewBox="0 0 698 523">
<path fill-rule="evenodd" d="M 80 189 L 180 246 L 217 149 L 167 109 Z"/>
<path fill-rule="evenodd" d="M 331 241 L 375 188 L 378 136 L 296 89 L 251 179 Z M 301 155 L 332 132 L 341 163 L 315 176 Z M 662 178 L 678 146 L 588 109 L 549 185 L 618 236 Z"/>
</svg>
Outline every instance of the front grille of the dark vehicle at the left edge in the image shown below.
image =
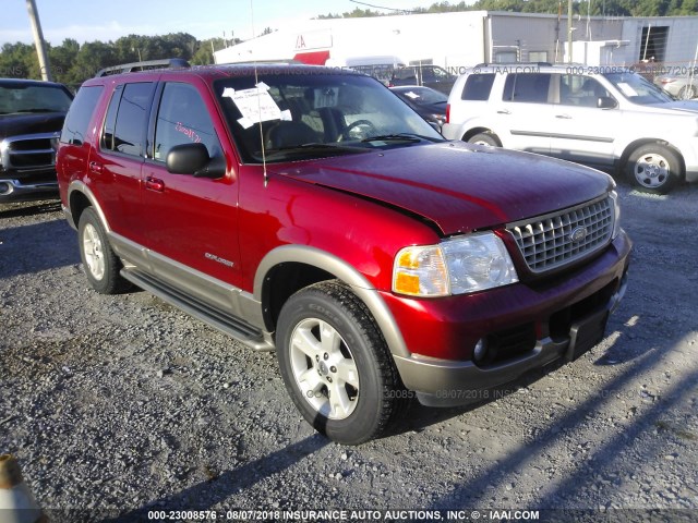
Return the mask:
<svg viewBox="0 0 698 523">
<path fill-rule="evenodd" d="M 0 142 L 3 170 L 33 172 L 53 169 L 58 135 L 59 133 L 37 133 L 4 138 Z"/>
</svg>

